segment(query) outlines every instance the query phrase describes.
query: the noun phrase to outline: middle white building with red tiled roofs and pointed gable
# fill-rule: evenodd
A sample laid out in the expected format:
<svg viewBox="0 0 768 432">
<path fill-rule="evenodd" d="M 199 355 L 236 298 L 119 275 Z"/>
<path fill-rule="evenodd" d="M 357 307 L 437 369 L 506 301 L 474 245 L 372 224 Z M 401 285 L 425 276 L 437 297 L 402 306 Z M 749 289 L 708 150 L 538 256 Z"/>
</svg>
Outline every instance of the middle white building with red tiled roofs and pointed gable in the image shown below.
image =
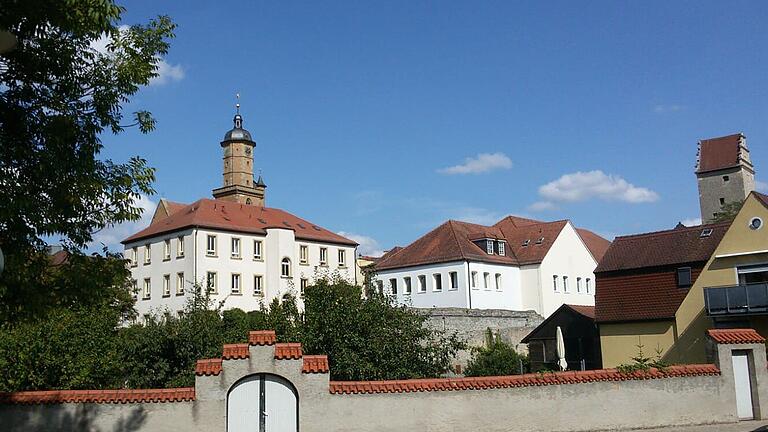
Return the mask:
<svg viewBox="0 0 768 432">
<path fill-rule="evenodd" d="M 519 229 L 509 221 L 500 222 L 503 229 L 449 221 L 382 257 L 374 283 L 417 308 L 533 310 L 546 317 L 565 303 L 594 305 L 593 272 L 608 242 L 593 251 L 568 221 L 514 220 Z"/>
</svg>

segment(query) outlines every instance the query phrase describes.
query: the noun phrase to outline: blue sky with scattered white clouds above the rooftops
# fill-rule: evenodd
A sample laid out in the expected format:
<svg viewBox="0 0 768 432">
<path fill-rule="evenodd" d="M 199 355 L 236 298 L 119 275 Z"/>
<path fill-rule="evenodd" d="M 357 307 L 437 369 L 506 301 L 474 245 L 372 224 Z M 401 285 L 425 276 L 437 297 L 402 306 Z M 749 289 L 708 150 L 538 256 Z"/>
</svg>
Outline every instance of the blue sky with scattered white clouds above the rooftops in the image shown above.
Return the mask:
<svg viewBox="0 0 768 432">
<path fill-rule="evenodd" d="M 148 207 L 220 186 L 237 92 L 267 205 L 364 252 L 449 218 L 671 228 L 699 216 L 697 141 L 735 132 L 768 179 L 766 2 L 126 7 L 124 24 L 179 26 L 163 79 L 125 107 L 152 111 L 157 130 L 103 136 L 105 157 L 157 168 Z"/>
</svg>

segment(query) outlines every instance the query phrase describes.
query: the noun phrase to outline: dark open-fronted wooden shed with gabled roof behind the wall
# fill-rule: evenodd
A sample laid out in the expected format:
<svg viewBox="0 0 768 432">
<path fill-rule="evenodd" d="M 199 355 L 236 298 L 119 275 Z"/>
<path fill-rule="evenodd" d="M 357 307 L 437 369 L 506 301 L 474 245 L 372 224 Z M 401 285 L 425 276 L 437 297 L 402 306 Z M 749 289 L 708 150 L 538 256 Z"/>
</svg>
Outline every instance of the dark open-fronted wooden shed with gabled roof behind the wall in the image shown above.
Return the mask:
<svg viewBox="0 0 768 432">
<path fill-rule="evenodd" d="M 563 332 L 569 370 L 602 368 L 595 307 L 564 304 L 522 340 L 528 344 L 532 371 L 560 369 L 557 364 L 558 327 Z"/>
</svg>

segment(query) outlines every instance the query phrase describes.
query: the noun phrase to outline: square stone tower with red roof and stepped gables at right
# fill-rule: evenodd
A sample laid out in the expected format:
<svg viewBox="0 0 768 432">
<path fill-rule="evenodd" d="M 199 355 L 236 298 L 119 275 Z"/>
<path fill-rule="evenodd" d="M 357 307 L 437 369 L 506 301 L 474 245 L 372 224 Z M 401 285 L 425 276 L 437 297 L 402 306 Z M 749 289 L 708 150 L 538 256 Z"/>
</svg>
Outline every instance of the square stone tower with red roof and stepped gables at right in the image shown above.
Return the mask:
<svg viewBox="0 0 768 432">
<path fill-rule="evenodd" d="M 743 201 L 755 189 L 755 169 L 744 134 L 699 141 L 696 178 L 703 223 L 712 221 L 723 205 Z"/>
</svg>

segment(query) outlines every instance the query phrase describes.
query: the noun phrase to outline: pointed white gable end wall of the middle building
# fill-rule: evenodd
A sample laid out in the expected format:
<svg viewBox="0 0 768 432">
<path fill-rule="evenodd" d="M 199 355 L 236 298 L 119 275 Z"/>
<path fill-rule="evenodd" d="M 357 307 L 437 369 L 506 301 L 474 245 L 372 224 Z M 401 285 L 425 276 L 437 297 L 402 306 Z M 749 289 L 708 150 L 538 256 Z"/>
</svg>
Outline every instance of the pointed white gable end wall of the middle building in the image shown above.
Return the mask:
<svg viewBox="0 0 768 432">
<path fill-rule="evenodd" d="M 552 248 L 541 263 L 539 270 L 542 309 L 544 318 L 558 307 L 567 303 L 593 306 L 595 304 L 595 267 L 597 262 L 587 249 L 581 237 L 568 222 L 555 239 Z M 558 276 L 558 291 L 553 286 L 553 276 Z M 568 276 L 568 291 L 563 290 L 563 276 Z M 577 292 L 576 279 L 581 277 L 581 292 Z M 590 290 L 586 292 L 586 279 L 590 279 Z"/>
</svg>

